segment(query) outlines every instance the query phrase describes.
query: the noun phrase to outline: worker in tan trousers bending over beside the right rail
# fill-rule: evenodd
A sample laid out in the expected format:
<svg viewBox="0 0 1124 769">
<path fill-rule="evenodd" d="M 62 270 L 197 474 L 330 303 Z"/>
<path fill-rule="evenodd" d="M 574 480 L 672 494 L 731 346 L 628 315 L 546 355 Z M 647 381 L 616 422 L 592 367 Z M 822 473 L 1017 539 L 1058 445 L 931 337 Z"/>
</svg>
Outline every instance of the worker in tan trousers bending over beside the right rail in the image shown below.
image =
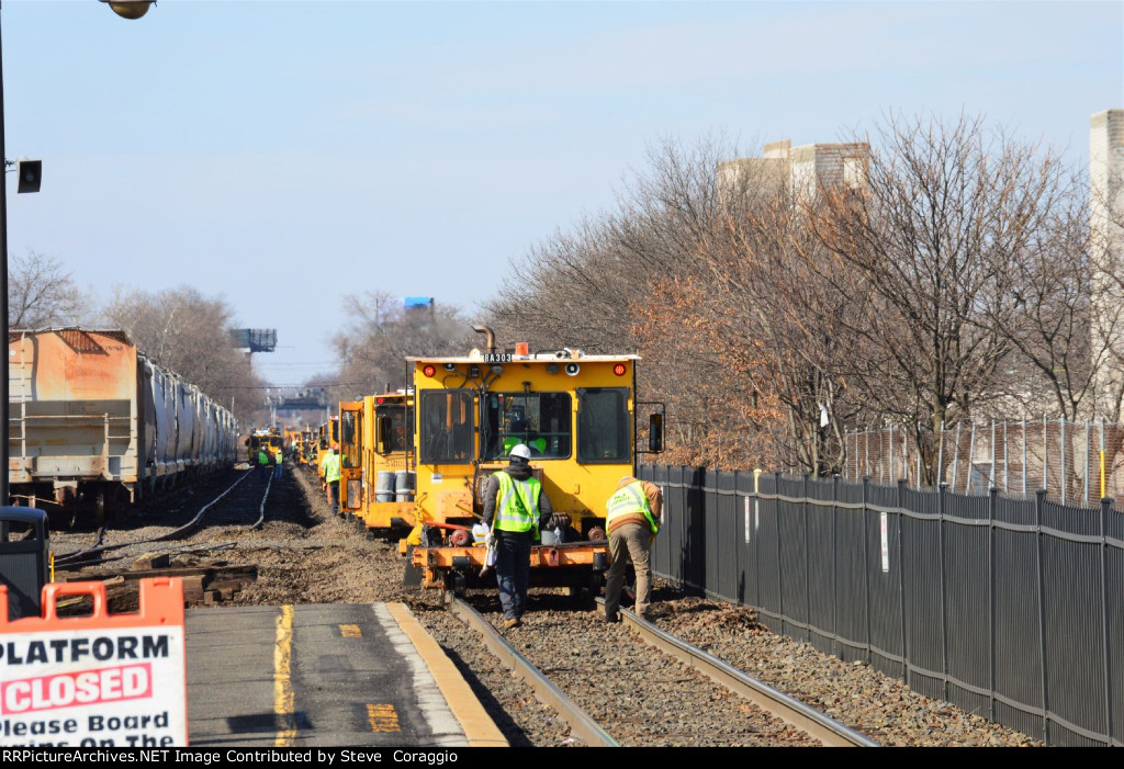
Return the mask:
<svg viewBox="0 0 1124 769">
<path fill-rule="evenodd" d="M 649 615 L 652 602 L 652 543 L 660 531 L 663 492 L 655 484 L 637 480 L 631 475 L 620 478 L 617 489 L 606 503 L 605 528 L 609 533 L 609 574 L 605 583 L 605 621 L 620 622 L 620 589 L 625 584 L 625 566 L 631 560 L 636 569 L 636 604 L 634 611 Z"/>
</svg>

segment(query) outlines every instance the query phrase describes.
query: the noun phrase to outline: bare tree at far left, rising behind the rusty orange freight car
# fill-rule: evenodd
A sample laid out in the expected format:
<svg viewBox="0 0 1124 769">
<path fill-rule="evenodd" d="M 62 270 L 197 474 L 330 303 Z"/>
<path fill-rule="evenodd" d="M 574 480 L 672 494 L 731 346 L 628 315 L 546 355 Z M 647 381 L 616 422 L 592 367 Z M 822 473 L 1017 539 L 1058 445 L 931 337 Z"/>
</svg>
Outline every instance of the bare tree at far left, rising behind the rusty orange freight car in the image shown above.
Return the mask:
<svg viewBox="0 0 1124 769">
<path fill-rule="evenodd" d="M 62 262 L 33 250 L 24 256 L 9 255 L 9 328 L 75 326 L 88 308 L 88 297 Z"/>
</svg>

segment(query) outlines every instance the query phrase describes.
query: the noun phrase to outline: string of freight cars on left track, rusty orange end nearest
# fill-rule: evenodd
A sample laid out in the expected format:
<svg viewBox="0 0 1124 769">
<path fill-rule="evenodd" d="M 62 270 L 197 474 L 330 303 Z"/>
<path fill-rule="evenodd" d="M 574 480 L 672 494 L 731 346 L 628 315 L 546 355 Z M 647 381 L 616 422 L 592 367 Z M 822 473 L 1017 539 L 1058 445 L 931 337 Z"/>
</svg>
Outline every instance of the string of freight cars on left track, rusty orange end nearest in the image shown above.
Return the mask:
<svg viewBox="0 0 1124 769">
<path fill-rule="evenodd" d="M 237 461 L 233 414 L 124 331 L 9 331 L 8 378 L 12 503 L 103 519 Z"/>
</svg>

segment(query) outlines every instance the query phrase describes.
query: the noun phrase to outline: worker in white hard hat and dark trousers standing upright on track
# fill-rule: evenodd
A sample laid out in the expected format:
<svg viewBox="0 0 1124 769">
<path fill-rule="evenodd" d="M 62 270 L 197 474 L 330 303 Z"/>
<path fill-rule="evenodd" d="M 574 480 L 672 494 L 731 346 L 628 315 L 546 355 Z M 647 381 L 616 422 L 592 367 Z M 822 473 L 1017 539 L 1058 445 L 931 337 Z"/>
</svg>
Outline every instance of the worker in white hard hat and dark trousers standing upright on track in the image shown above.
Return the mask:
<svg viewBox="0 0 1124 769">
<path fill-rule="evenodd" d="M 531 473 L 531 449 L 519 443 L 508 455 L 506 469 L 497 470 L 484 486 L 486 537 L 496 547 L 496 582 L 504 607 L 504 628 L 523 624 L 531 583 L 531 544 L 540 529 L 554 522 L 554 509 L 543 484 Z M 569 518 L 566 519 L 569 523 Z"/>
</svg>

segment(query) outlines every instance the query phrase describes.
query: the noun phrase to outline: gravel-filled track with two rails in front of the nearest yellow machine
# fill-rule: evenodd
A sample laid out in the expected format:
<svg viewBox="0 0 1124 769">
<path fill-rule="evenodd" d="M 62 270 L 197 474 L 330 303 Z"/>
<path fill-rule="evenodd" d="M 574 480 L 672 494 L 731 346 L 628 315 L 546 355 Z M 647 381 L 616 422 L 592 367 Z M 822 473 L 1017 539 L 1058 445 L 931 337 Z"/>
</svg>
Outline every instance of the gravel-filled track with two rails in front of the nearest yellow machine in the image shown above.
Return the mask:
<svg viewBox="0 0 1124 769">
<path fill-rule="evenodd" d="M 611 628 L 572 612 L 575 622 L 565 623 L 562 635 L 556 621 L 538 623 L 528 614 L 523 628 L 505 637 L 465 601 L 453 599 L 450 607 L 558 712 L 570 738 L 587 745 L 878 744 L 632 612 L 623 611 L 624 622 Z M 623 638 L 628 633 L 636 637 Z M 560 638 L 565 648 L 559 648 Z M 623 661 L 606 662 L 620 650 Z M 705 718 L 694 718 L 704 712 Z"/>
</svg>

